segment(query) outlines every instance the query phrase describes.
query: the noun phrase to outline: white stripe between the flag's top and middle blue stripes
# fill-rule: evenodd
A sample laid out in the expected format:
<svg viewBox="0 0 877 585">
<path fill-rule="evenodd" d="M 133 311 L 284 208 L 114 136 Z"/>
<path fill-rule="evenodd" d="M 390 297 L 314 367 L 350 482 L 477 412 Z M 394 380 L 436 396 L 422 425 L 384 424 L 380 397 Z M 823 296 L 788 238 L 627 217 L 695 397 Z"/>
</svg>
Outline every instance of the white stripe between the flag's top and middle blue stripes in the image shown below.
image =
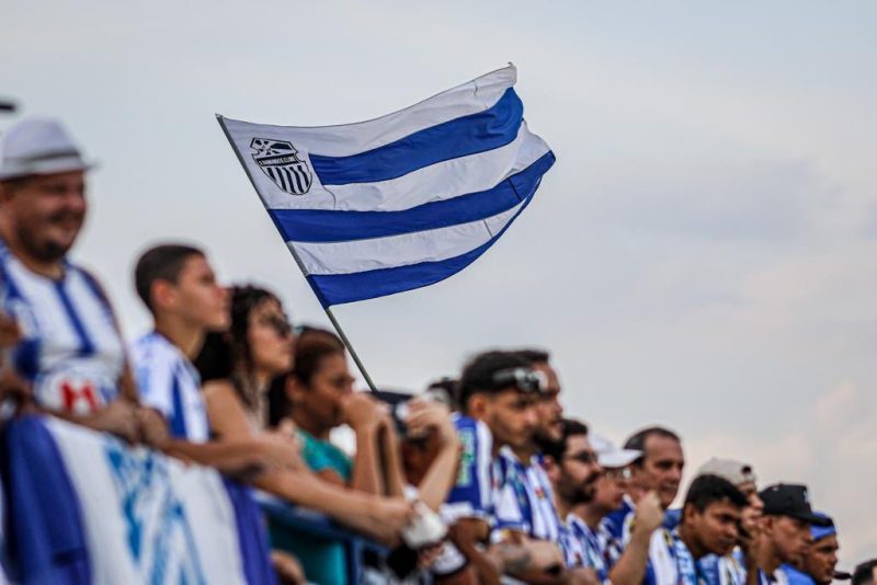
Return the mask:
<svg viewBox="0 0 877 585">
<path fill-rule="evenodd" d="M 331 188 L 338 197 L 339 210 L 401 211 L 492 188 L 549 150 L 542 138 L 522 124 L 517 138 L 503 147 L 437 162 L 389 181 Z"/>
</svg>

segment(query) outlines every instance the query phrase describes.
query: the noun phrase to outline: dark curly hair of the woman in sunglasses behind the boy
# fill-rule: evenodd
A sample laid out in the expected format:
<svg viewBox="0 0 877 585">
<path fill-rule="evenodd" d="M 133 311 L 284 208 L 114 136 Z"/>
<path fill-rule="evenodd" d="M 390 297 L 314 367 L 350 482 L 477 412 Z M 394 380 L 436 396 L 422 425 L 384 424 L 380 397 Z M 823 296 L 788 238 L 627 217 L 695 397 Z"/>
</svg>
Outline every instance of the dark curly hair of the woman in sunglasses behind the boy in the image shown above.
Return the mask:
<svg viewBox="0 0 877 585">
<path fill-rule="evenodd" d="M 280 299 L 273 292 L 252 285 L 236 285 L 229 290 L 231 320 L 228 332 L 208 333 L 194 364 L 202 382 L 229 379 L 238 397 L 248 408 L 254 408 L 252 395 L 244 387 L 253 386 L 253 356 L 247 333 L 250 313 L 266 300 Z"/>
</svg>

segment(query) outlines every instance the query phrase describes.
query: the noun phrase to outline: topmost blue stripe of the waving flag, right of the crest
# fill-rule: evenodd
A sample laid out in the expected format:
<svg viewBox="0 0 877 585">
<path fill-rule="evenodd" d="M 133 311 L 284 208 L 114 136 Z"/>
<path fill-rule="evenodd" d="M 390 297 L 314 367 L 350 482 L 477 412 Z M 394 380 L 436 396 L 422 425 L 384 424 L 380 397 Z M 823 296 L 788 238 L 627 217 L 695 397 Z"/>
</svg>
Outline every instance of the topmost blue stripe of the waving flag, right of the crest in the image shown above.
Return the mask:
<svg viewBox="0 0 877 585">
<path fill-rule="evenodd" d="M 512 88 L 492 107 L 415 131 L 349 157 L 309 154 L 323 185 L 388 181 L 442 162 L 492 150 L 517 136 L 524 104 Z"/>
</svg>

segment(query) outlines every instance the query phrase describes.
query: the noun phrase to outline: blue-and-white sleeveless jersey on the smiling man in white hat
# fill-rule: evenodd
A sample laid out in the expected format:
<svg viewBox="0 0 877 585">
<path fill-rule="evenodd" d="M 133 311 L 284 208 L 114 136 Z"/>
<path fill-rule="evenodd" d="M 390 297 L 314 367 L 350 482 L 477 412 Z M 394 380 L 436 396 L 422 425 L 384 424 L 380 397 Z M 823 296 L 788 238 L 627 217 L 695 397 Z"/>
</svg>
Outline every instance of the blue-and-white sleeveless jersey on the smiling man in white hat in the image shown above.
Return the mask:
<svg viewBox="0 0 877 585">
<path fill-rule="evenodd" d="M 110 302 L 89 273 L 65 261 L 64 276 L 48 278 L 0 242 L 0 307 L 19 323 L 22 341 L 10 358 L 37 404 L 90 414 L 116 398 L 125 346 Z"/>
</svg>

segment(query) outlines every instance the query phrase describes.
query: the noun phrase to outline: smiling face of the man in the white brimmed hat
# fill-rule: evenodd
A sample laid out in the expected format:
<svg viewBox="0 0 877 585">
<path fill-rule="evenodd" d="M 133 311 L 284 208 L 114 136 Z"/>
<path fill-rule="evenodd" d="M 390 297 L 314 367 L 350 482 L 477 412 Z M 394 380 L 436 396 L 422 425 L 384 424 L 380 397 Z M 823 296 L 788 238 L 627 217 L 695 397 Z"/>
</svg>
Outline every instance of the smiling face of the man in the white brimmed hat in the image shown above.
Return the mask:
<svg viewBox="0 0 877 585">
<path fill-rule="evenodd" d="M 41 262 L 64 257 L 86 220 L 86 173 L 35 175 L 2 184 L 2 210 L 25 253 Z"/>
</svg>

